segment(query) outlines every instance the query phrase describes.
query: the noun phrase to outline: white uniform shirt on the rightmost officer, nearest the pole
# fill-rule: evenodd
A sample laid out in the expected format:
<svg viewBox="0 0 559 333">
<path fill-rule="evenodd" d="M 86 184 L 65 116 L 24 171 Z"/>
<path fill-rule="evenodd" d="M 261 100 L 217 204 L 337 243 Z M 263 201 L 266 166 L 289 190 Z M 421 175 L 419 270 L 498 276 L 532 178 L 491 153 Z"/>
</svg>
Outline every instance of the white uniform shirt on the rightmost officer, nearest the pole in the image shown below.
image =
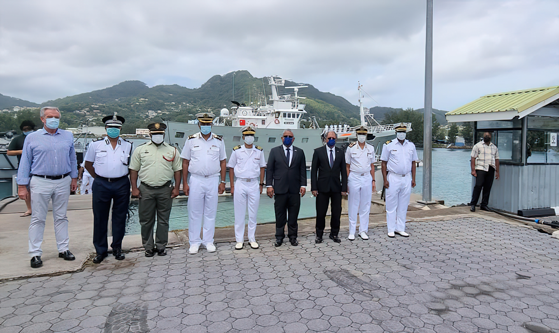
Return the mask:
<svg viewBox="0 0 559 333">
<path fill-rule="evenodd" d="M 409 140 L 400 144 L 398 139 L 392 140 L 382 148 L 381 161 L 386 162 L 386 170 L 396 174 L 408 174 L 411 172 L 411 163 L 418 160 L 415 145 Z"/>
</svg>

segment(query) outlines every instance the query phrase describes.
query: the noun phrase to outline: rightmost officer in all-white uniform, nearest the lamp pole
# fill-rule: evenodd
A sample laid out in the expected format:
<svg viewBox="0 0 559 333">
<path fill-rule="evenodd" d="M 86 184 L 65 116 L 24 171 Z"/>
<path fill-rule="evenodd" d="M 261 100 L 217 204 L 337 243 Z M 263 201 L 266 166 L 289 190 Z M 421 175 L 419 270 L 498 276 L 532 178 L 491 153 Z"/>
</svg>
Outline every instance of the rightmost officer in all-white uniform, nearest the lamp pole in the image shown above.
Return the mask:
<svg viewBox="0 0 559 333">
<path fill-rule="evenodd" d="M 408 237 L 406 212 L 410 203 L 411 188 L 415 187 L 415 161 L 418 159 L 415 145 L 406 140 L 408 127 L 396 126 L 396 139 L 382 148 L 382 178 L 386 198 L 386 224 L 388 236 L 394 233 Z"/>
</svg>

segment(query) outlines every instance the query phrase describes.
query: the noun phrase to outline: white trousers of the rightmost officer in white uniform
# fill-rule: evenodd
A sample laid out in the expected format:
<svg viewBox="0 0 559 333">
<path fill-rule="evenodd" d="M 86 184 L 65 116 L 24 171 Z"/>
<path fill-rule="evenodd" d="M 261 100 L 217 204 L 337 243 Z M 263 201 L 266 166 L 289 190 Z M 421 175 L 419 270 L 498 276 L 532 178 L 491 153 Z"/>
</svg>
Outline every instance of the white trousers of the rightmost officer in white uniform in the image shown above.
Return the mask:
<svg viewBox="0 0 559 333">
<path fill-rule="evenodd" d="M 406 213 L 411 194 L 411 173 L 402 177 L 389 172 L 388 183 L 389 188 L 385 191 L 388 232 L 406 231 Z"/>
</svg>

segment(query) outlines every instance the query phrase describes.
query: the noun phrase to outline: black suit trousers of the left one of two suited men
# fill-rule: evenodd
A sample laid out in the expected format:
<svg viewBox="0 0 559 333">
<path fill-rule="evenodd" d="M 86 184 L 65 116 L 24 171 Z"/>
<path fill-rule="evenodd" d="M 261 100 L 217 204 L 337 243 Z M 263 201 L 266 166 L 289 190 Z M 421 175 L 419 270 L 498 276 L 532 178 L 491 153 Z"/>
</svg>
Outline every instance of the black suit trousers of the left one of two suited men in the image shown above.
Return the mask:
<svg viewBox="0 0 559 333">
<path fill-rule="evenodd" d="M 276 210 L 276 239 L 285 238 L 285 223 L 287 223 L 287 237 L 297 239 L 297 217 L 301 207 L 301 194 L 285 193 L 274 195 Z"/>
</svg>

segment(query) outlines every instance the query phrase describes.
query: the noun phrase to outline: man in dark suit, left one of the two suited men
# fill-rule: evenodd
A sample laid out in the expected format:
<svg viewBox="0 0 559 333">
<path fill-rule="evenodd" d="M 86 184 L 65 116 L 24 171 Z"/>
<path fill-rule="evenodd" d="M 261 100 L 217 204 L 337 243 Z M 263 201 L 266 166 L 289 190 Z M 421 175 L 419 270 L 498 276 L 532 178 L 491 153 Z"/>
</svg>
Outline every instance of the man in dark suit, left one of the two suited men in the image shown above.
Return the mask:
<svg viewBox="0 0 559 333">
<path fill-rule="evenodd" d="M 276 210 L 276 242 L 280 246 L 285 238 L 285 224 L 287 223 L 287 237 L 291 245 L 297 246 L 297 216 L 301 206 L 301 197 L 305 195 L 307 185 L 307 170 L 305 153 L 293 146 L 293 132 L 283 131 L 283 144 L 274 147 L 268 155 L 266 165 L 266 194 L 274 199 Z"/>
</svg>

